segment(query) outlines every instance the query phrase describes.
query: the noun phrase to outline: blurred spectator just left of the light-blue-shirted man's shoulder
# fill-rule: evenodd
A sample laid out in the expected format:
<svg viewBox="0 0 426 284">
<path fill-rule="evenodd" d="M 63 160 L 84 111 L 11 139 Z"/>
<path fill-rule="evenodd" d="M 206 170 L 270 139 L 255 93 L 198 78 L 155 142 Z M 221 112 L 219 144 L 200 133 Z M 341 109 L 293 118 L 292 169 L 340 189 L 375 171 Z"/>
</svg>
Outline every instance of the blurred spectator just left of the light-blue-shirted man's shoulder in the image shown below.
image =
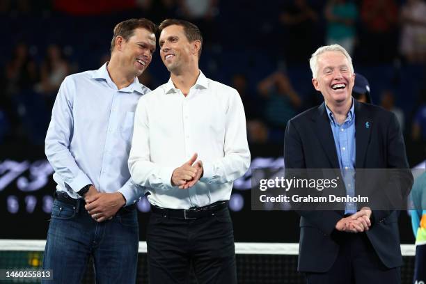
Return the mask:
<svg viewBox="0 0 426 284">
<path fill-rule="evenodd" d="M 41 67 L 41 81 L 36 90 L 45 95 L 56 95 L 65 77 L 70 74 L 70 65 L 63 58 L 62 51 L 57 45 L 47 47 L 47 55 Z"/>
</svg>

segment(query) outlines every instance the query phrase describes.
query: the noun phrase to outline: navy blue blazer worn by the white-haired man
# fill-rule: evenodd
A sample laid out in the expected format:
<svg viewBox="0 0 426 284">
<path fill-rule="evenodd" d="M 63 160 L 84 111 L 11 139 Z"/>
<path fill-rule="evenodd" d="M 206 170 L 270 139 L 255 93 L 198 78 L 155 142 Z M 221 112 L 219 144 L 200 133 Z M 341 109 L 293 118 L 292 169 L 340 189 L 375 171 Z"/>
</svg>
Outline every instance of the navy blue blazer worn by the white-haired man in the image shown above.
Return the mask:
<svg viewBox="0 0 426 284">
<path fill-rule="evenodd" d="M 369 127 L 365 127 L 368 122 Z M 355 101 L 355 168 L 409 168 L 404 139 L 393 113 L 372 104 Z M 287 123 L 284 141 L 286 168 L 339 168 L 338 155 L 325 103 L 308 109 Z M 404 186 L 408 196 L 413 176 L 393 177 L 388 186 Z M 356 179 L 356 189 L 362 183 Z M 395 189 L 393 189 L 395 190 Z M 299 271 L 326 272 L 338 255 L 334 239 L 343 211 L 297 211 L 300 219 Z M 388 268 L 402 265 L 397 212 L 373 210 L 372 226 L 366 232 L 381 262 Z"/>
</svg>

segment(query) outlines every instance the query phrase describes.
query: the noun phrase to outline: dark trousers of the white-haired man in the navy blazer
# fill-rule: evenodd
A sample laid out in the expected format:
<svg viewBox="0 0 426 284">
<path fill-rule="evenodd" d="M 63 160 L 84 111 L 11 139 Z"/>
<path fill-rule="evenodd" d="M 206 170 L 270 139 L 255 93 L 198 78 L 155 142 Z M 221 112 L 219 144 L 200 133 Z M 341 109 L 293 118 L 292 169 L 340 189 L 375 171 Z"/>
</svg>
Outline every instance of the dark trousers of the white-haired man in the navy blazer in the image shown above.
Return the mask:
<svg viewBox="0 0 426 284">
<path fill-rule="evenodd" d="M 385 267 L 365 233 L 338 233 L 338 242 L 338 257 L 331 269 L 306 273 L 308 284 L 401 283 L 400 267 Z"/>
</svg>

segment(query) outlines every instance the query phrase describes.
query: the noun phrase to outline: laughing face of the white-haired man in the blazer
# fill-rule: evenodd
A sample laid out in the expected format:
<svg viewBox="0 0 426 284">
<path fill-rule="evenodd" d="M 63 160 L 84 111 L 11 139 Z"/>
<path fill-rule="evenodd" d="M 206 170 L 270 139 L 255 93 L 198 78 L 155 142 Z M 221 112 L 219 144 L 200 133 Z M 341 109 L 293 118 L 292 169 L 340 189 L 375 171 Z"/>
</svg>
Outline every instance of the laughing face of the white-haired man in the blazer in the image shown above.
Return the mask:
<svg viewBox="0 0 426 284">
<path fill-rule="evenodd" d="M 312 82 L 328 106 L 350 104 L 354 81 L 355 74 L 342 52 L 324 52 L 318 56 L 317 74 Z"/>
</svg>

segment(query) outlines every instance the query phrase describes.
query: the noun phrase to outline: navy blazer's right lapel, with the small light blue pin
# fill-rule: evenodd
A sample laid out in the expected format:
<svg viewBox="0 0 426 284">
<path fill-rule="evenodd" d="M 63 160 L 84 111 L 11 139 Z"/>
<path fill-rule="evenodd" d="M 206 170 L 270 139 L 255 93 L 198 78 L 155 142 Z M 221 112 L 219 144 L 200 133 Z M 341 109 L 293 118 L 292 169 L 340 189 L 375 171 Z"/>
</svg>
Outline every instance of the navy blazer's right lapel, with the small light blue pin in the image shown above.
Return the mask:
<svg viewBox="0 0 426 284">
<path fill-rule="evenodd" d="M 355 168 L 365 168 L 365 155 L 370 143 L 372 123 L 363 105 L 355 101 Z"/>
</svg>

